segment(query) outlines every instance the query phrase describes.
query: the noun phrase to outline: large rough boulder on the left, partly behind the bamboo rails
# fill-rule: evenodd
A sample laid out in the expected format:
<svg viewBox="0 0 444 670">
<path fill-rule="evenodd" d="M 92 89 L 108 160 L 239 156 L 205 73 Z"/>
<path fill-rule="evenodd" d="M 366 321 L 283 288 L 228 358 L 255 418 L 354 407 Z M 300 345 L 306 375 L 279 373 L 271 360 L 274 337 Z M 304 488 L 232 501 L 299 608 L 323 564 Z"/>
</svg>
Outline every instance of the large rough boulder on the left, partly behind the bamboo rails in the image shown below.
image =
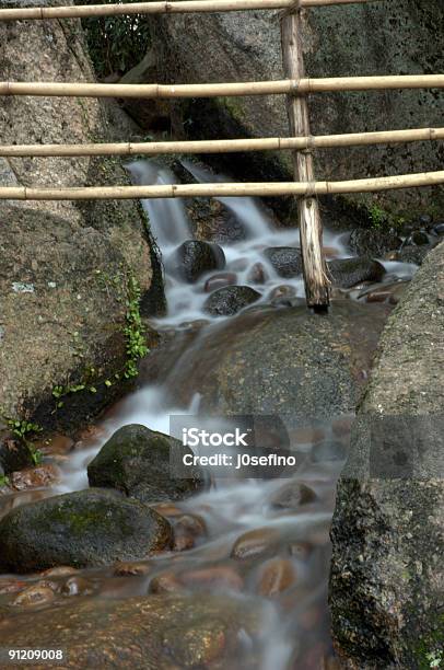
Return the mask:
<svg viewBox="0 0 444 670">
<path fill-rule="evenodd" d="M 3 80 L 94 79 L 77 21 L 2 22 L 0 44 Z M 107 134 L 94 99 L 0 100 L 3 143 L 82 143 Z M 0 160 L 0 181 L 83 186 L 121 184 L 127 177 L 119 161 L 109 158 L 10 158 Z M 159 274 L 153 281 L 155 254 L 147 220 L 131 200 L 3 200 L 0 220 L 0 407 L 14 418 L 33 414 L 40 401 L 50 401 L 56 385 L 69 385 L 70 379 L 84 383 L 84 370 L 94 370 L 86 374 L 87 385 L 97 391 L 89 393 L 92 406 L 106 391 L 100 381 L 125 367 L 130 278 L 147 309 L 153 307 L 151 299 L 155 302 Z M 51 403 L 45 419 L 54 419 L 54 408 Z"/>
</svg>

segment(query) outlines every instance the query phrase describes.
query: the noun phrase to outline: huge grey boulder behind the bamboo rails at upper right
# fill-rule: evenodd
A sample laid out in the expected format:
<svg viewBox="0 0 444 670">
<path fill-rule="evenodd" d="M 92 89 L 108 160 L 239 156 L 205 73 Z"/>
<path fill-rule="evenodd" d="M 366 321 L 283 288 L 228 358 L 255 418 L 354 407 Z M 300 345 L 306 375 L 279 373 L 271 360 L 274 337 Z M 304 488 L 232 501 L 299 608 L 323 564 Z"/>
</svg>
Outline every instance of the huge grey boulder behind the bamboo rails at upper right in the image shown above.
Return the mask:
<svg viewBox="0 0 444 670">
<path fill-rule="evenodd" d="M 439 28 L 444 21 L 441 0 L 421 5 L 417 0 L 385 0 L 322 7 L 303 11 L 302 18 L 308 77 L 414 74 L 441 72 L 444 68 Z M 176 83 L 282 79 L 279 19 L 278 11 L 153 19 L 157 79 Z M 316 135 L 429 127 L 440 125 L 442 117 L 442 95 L 428 90 L 323 93 L 312 95 L 309 106 L 312 131 Z M 175 105 L 177 108 L 186 122 L 180 130 L 191 137 L 289 135 L 282 95 L 196 100 Z M 430 170 L 442 165 L 437 142 L 329 149 L 315 157 L 318 177 L 335 180 L 411 172 L 411 165 Z M 238 170 L 242 178 L 246 168 L 255 178 L 291 176 L 287 152 L 271 154 L 268 163 L 261 155 L 241 155 L 236 161 L 229 158 L 227 165 L 232 171 Z M 382 194 L 378 201 L 389 207 L 400 203 L 408 210 L 411 205 L 427 204 L 429 197 L 427 189 L 411 189 Z M 443 201 L 437 188 L 434 197 L 436 204 Z"/>
</svg>

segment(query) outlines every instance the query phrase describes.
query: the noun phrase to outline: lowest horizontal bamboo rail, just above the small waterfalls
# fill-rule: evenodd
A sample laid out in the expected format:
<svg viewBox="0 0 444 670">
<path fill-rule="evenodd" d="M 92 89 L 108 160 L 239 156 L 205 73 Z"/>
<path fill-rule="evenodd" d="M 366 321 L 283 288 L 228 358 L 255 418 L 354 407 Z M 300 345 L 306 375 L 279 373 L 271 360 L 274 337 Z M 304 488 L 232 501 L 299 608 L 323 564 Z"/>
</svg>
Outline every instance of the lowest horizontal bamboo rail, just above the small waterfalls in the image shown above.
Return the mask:
<svg viewBox="0 0 444 670">
<path fill-rule="evenodd" d="M 230 184 L 168 184 L 161 186 L 84 186 L 79 188 L 32 188 L 5 186 L 0 200 L 129 200 L 135 198 L 189 198 L 239 196 L 316 196 L 373 193 L 444 184 L 444 170 L 348 182 L 264 182 Z"/>
</svg>

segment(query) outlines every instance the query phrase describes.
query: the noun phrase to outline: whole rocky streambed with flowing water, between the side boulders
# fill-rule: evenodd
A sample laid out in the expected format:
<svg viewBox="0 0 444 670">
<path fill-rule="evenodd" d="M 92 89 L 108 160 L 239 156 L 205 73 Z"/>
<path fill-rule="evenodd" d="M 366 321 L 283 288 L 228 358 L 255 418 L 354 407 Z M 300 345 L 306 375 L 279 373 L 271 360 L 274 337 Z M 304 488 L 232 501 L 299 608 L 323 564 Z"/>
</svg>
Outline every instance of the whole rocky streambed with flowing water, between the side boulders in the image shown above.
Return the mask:
<svg viewBox="0 0 444 670">
<path fill-rule="evenodd" d="M 152 164 L 131 172 L 168 178 Z M 327 230 L 334 302 L 315 315 L 296 231 L 254 200 L 221 205 L 220 236 L 203 239 L 184 204 L 145 204 L 168 313 L 152 322 L 162 344 L 139 389 L 86 430 L 40 440 L 37 469 L 14 467 L 21 451 L 2 439 L 0 646 L 61 648 L 67 668 L 339 667 L 327 598 L 336 484 L 379 335 L 417 265 L 358 255 L 349 244 L 364 235 Z M 436 222 L 421 226 L 436 243 Z M 408 235 L 398 246 L 413 249 Z M 258 453 L 296 465 L 172 477 L 172 415 L 253 417 Z"/>
</svg>

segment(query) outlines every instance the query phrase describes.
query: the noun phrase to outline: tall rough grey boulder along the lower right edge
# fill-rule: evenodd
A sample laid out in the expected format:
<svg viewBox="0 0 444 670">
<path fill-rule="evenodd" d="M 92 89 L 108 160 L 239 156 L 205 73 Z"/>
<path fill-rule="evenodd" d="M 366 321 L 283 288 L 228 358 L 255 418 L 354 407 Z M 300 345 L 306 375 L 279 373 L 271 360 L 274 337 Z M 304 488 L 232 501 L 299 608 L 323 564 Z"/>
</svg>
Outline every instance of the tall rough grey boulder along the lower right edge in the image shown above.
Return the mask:
<svg viewBox="0 0 444 670">
<path fill-rule="evenodd" d="M 442 651 L 443 368 L 441 244 L 387 323 L 338 487 L 330 603 L 350 667 L 429 668 Z"/>
</svg>

